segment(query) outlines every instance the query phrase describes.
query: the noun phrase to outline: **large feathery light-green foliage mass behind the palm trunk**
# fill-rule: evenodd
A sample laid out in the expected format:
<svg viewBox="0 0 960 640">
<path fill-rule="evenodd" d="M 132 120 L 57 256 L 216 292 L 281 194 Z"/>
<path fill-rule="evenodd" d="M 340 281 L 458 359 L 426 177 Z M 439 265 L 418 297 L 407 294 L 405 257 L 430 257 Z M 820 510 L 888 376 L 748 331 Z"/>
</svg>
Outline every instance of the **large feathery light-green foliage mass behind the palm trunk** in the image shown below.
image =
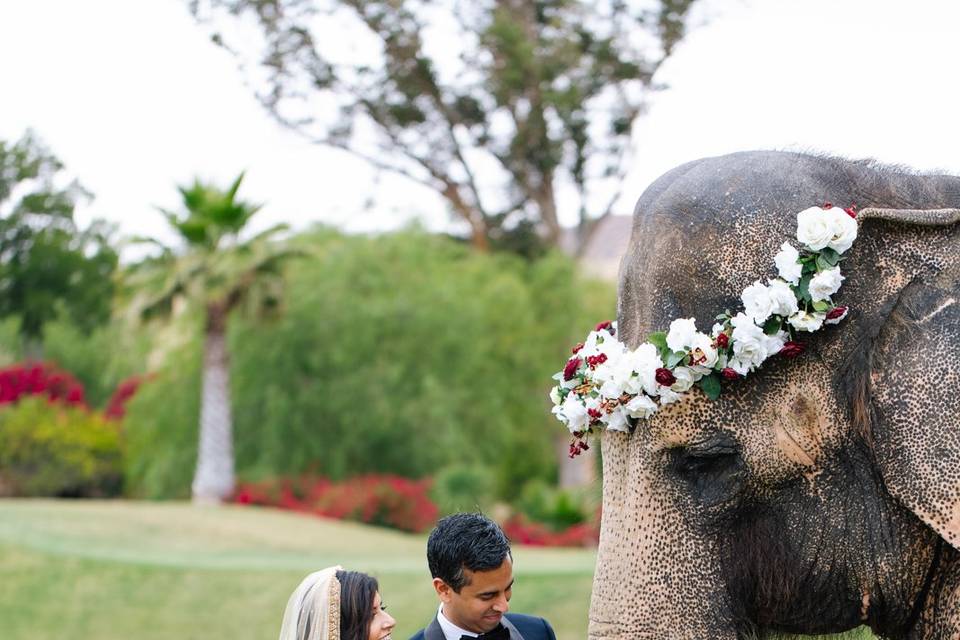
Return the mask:
<svg viewBox="0 0 960 640">
<path fill-rule="evenodd" d="M 613 315 L 612 285 L 586 286 L 560 255 L 478 254 L 416 231 L 296 241 L 310 257 L 288 269 L 281 316 L 230 326 L 241 478 L 480 465 L 512 499 L 529 480 L 555 477 L 562 432 L 549 414 L 550 375 Z M 131 405 L 128 469 L 144 495 L 189 486 L 194 348 Z"/>
</svg>

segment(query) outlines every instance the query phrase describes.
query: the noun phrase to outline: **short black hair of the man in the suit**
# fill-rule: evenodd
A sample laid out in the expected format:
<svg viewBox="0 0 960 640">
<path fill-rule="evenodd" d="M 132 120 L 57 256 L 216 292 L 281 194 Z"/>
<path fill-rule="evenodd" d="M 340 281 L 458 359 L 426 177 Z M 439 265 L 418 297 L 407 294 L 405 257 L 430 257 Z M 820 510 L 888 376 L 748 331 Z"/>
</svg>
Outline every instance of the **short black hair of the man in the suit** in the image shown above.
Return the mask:
<svg viewBox="0 0 960 640">
<path fill-rule="evenodd" d="M 427 540 L 430 574 L 460 593 L 463 570 L 491 571 L 510 555 L 510 540 L 482 513 L 455 513 L 441 518 Z"/>
</svg>

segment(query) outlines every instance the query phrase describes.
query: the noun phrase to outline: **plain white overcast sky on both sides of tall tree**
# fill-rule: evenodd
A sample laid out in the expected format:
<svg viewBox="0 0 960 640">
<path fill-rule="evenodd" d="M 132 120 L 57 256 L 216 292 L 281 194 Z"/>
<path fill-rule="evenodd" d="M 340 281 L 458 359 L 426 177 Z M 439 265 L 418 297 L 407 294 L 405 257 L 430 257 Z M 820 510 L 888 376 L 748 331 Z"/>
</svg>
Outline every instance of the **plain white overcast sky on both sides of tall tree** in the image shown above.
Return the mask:
<svg viewBox="0 0 960 640">
<path fill-rule="evenodd" d="M 182 0 L 0 2 L 0 138 L 32 127 L 96 195 L 82 215 L 162 235 L 154 205 L 199 175 L 266 202 L 260 224 L 350 230 L 443 207 L 399 178 L 281 130 Z M 636 128 L 618 213 L 682 162 L 752 148 L 874 157 L 960 174 L 960 3 L 710 0 Z M 381 194 L 377 206 L 364 203 Z M 385 195 L 384 195 L 385 194 Z"/>
</svg>

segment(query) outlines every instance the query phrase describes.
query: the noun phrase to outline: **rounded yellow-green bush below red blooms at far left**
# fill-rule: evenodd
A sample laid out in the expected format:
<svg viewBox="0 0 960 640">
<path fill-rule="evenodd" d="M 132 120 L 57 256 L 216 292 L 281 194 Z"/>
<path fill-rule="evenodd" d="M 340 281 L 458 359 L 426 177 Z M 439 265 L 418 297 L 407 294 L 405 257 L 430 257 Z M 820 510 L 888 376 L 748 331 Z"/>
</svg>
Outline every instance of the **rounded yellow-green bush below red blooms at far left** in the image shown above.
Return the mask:
<svg viewBox="0 0 960 640">
<path fill-rule="evenodd" d="M 118 423 L 40 396 L 0 408 L 0 495 L 112 496 L 121 478 Z"/>
</svg>

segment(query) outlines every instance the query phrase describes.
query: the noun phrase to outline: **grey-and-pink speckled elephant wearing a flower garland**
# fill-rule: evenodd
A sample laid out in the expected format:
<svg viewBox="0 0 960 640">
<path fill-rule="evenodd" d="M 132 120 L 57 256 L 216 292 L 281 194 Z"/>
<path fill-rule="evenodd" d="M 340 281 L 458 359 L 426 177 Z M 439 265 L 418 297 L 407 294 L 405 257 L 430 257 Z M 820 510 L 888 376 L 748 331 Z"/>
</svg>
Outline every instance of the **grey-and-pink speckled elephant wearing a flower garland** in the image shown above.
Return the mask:
<svg viewBox="0 0 960 640">
<path fill-rule="evenodd" d="M 681 165 L 637 203 L 618 337 L 709 330 L 826 202 L 859 211 L 848 317 L 601 435 L 590 638 L 960 638 L 960 178 L 781 151 Z"/>
</svg>

